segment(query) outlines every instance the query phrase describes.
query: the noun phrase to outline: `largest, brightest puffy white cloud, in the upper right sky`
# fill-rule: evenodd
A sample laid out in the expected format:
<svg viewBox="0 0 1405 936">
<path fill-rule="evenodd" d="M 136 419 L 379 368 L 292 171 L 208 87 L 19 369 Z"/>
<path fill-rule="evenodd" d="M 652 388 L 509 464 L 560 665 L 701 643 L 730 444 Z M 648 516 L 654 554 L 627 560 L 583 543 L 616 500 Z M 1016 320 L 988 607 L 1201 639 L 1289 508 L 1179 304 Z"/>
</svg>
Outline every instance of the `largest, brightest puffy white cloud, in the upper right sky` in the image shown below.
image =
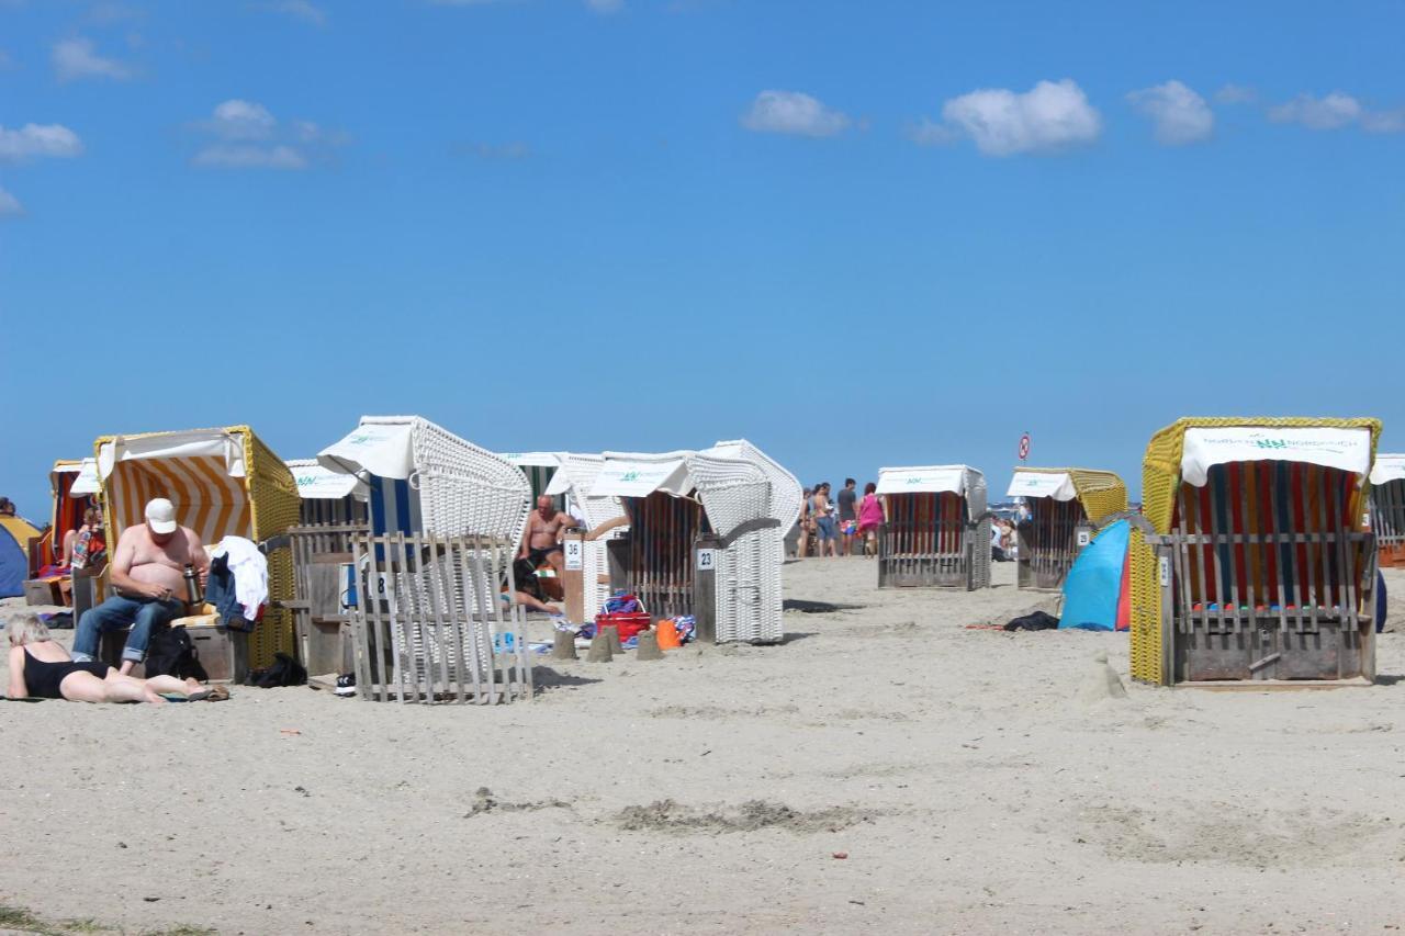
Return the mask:
<svg viewBox="0 0 1405 936">
<path fill-rule="evenodd" d="M 988 156 L 1012 156 L 1090 143 L 1103 132 L 1097 108 L 1071 79 L 1040 82 L 1023 94 L 982 89 L 953 97 L 941 105 L 941 119 L 927 121 L 915 139 L 964 135 Z"/>
</svg>

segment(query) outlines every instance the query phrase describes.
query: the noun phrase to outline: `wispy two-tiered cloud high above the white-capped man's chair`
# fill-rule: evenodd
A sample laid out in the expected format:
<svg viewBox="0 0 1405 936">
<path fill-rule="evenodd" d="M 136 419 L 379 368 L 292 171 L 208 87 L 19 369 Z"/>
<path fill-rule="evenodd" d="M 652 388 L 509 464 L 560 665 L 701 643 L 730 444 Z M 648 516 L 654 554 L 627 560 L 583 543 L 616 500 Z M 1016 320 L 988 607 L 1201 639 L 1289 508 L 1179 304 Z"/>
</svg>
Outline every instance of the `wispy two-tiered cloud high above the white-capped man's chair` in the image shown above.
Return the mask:
<svg viewBox="0 0 1405 936">
<path fill-rule="evenodd" d="M 312 121 L 280 121 L 263 104 L 242 98 L 218 104 L 192 128 L 214 138 L 191 157 L 192 164 L 209 169 L 306 169 L 350 142 L 346 134 Z"/>
</svg>

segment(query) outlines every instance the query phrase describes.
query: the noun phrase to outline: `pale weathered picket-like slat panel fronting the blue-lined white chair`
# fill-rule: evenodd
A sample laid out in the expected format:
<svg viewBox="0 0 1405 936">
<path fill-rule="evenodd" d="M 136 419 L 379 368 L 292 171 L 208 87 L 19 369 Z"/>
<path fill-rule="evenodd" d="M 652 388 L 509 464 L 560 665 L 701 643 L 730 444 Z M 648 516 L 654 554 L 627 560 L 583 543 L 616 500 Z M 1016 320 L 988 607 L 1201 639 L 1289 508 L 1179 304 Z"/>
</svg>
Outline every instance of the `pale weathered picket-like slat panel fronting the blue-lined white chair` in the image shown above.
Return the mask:
<svg viewBox="0 0 1405 936">
<path fill-rule="evenodd" d="M 357 690 L 402 703 L 495 704 L 532 696 L 521 606 L 499 596 L 513 544 L 489 537 L 351 540 Z"/>
</svg>

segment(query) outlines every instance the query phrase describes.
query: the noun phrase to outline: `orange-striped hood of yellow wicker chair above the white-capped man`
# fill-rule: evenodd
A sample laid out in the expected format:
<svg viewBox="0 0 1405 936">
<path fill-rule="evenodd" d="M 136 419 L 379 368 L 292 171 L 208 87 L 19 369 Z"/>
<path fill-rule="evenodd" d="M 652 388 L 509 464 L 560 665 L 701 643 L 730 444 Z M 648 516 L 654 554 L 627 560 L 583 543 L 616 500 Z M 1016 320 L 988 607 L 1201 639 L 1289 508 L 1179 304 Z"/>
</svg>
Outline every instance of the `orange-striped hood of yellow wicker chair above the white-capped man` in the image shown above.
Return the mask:
<svg viewBox="0 0 1405 936">
<path fill-rule="evenodd" d="M 259 541 L 298 521 L 292 472 L 247 426 L 105 436 L 96 451 L 110 544 L 143 521 L 152 498 L 167 498 L 207 544 Z"/>
</svg>

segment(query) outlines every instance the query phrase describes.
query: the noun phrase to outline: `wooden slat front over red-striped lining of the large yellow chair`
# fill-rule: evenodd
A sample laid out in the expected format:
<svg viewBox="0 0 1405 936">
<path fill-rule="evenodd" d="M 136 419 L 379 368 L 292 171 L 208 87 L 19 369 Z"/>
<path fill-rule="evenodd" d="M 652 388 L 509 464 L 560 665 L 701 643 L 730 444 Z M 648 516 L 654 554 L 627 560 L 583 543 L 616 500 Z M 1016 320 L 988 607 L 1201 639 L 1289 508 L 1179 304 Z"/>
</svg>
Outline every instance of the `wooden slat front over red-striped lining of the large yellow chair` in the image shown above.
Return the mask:
<svg viewBox="0 0 1405 936">
<path fill-rule="evenodd" d="M 1375 538 L 1350 472 L 1215 465 L 1149 541 L 1176 682 L 1374 675 Z"/>
</svg>

